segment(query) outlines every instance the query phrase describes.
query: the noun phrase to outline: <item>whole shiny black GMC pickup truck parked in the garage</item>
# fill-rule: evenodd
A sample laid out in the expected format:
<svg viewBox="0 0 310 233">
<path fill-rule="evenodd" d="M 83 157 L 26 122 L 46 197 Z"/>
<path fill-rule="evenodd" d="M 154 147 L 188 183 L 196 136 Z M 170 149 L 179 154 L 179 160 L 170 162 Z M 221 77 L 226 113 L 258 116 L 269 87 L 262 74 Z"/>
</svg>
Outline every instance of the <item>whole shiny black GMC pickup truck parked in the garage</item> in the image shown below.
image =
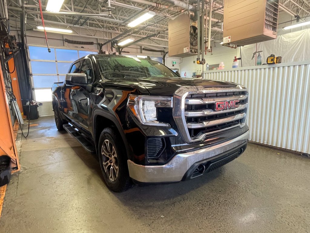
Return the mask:
<svg viewBox="0 0 310 233">
<path fill-rule="evenodd" d="M 58 130 L 95 152 L 107 186 L 176 182 L 213 171 L 246 149 L 247 89 L 181 78 L 148 58 L 88 55 L 52 87 Z"/>
</svg>

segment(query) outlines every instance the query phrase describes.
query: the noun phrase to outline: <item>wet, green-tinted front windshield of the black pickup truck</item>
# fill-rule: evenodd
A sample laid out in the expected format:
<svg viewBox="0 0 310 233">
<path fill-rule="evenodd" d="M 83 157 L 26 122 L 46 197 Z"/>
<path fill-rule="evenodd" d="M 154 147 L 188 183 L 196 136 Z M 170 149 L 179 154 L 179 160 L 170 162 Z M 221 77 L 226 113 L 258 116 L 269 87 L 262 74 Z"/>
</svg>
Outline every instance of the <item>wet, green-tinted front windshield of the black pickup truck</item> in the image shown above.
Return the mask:
<svg viewBox="0 0 310 233">
<path fill-rule="evenodd" d="M 99 71 L 105 79 L 141 77 L 179 77 L 163 64 L 138 57 L 100 57 Z"/>
</svg>

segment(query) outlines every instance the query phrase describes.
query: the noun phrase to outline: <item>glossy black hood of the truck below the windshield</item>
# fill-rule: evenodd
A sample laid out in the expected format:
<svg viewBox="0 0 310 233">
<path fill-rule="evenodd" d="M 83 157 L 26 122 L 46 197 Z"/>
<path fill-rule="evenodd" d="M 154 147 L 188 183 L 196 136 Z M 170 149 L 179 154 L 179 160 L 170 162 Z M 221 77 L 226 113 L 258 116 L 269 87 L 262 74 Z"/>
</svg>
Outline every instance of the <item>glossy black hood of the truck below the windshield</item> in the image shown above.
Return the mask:
<svg viewBox="0 0 310 233">
<path fill-rule="evenodd" d="M 204 86 L 204 87 L 232 87 L 235 83 L 207 80 L 201 78 L 117 78 L 108 82 L 126 85 L 127 87 L 137 87 L 141 93 L 150 95 L 171 96 L 182 86 Z"/>
</svg>

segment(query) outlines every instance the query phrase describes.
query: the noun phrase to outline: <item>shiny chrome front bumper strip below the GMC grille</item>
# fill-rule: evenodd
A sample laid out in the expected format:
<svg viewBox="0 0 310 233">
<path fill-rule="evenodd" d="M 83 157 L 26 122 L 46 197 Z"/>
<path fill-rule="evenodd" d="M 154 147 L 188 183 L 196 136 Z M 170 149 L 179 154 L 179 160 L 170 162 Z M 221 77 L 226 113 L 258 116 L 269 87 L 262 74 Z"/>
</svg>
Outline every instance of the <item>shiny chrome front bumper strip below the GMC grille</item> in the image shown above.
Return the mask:
<svg viewBox="0 0 310 233">
<path fill-rule="evenodd" d="M 129 175 L 136 181 L 146 183 L 180 181 L 194 163 L 225 153 L 247 142 L 248 139 L 249 131 L 215 146 L 177 154 L 170 162 L 162 166 L 142 166 L 128 160 Z"/>
</svg>

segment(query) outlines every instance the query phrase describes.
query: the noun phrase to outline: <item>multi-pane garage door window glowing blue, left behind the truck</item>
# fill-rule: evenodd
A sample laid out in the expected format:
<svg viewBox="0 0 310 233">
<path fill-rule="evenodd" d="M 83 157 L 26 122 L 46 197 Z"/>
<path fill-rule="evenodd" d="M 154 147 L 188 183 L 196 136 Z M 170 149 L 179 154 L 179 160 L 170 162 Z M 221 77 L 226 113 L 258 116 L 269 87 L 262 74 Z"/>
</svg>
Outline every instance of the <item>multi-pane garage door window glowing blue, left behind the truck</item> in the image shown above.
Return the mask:
<svg viewBox="0 0 310 233">
<path fill-rule="evenodd" d="M 63 82 L 72 62 L 88 54 L 98 53 L 62 48 L 51 48 L 51 53 L 49 53 L 46 47 L 29 46 L 35 100 L 51 102 L 53 83 Z"/>
</svg>

